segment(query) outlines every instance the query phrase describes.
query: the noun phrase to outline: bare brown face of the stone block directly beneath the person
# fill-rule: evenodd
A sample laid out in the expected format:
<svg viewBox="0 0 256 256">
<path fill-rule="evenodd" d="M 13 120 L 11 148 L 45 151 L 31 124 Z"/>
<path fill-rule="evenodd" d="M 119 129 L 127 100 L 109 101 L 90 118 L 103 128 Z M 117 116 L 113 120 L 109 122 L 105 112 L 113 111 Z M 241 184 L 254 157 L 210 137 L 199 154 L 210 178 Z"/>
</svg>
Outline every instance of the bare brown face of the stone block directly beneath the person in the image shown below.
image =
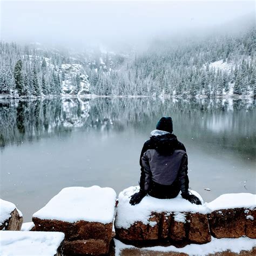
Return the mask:
<svg viewBox="0 0 256 256">
<path fill-rule="evenodd" d="M 177 219 L 177 215 L 183 219 Z M 207 215 L 200 213 L 152 213 L 148 224 L 137 221 L 129 228 L 116 227 L 115 230 L 120 240 L 131 242 L 169 240 L 204 244 L 211 241 Z"/>
</svg>

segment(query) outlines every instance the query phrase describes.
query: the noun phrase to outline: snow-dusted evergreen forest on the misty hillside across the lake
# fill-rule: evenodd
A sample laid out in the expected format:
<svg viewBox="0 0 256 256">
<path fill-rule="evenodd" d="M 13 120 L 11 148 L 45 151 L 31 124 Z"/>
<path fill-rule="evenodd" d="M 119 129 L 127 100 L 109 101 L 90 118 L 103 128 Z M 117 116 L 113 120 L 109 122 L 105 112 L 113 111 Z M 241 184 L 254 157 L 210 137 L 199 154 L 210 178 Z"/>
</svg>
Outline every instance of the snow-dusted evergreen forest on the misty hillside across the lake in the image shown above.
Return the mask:
<svg viewBox="0 0 256 256">
<path fill-rule="evenodd" d="M 255 96 L 255 28 L 240 35 L 174 43 L 154 41 L 144 52 L 73 52 L 0 43 L 0 95 L 65 95 L 63 64 L 78 64 L 90 94 L 104 96 Z M 80 91 L 80 75 L 69 78 Z"/>
</svg>

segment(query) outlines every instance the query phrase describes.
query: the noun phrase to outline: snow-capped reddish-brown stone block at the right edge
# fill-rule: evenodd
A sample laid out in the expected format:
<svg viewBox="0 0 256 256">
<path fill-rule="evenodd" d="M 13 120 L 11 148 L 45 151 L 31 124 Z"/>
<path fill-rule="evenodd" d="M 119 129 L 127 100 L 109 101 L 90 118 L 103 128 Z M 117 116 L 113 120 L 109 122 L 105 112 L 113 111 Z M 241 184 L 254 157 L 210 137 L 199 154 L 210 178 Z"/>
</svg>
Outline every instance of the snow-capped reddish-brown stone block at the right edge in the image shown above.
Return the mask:
<svg viewBox="0 0 256 256">
<path fill-rule="evenodd" d="M 211 234 L 215 238 L 256 238 L 256 195 L 223 194 L 207 204 Z"/>
</svg>

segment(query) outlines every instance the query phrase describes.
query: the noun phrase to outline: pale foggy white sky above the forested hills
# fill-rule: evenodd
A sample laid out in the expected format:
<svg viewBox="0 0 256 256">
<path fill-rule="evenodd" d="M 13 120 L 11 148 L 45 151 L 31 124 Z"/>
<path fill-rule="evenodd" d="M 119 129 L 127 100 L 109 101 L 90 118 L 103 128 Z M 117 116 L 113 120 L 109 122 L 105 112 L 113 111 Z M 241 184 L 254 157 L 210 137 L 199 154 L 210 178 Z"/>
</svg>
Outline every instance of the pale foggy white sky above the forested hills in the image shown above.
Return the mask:
<svg viewBox="0 0 256 256">
<path fill-rule="evenodd" d="M 254 12 L 254 1 L 2 1 L 1 39 L 71 46 L 143 42 L 167 33 L 211 29 Z"/>
</svg>

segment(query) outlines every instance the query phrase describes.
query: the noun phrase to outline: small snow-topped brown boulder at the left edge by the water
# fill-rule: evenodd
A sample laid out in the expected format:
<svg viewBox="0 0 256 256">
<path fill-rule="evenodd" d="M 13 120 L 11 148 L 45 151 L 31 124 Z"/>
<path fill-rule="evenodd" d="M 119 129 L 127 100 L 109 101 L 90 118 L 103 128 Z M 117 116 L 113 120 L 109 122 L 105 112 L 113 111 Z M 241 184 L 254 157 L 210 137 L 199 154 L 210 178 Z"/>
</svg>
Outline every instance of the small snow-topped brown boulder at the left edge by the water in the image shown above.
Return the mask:
<svg viewBox="0 0 256 256">
<path fill-rule="evenodd" d="M 23 217 L 15 204 L 0 199 L 0 230 L 21 230 Z"/>
</svg>

